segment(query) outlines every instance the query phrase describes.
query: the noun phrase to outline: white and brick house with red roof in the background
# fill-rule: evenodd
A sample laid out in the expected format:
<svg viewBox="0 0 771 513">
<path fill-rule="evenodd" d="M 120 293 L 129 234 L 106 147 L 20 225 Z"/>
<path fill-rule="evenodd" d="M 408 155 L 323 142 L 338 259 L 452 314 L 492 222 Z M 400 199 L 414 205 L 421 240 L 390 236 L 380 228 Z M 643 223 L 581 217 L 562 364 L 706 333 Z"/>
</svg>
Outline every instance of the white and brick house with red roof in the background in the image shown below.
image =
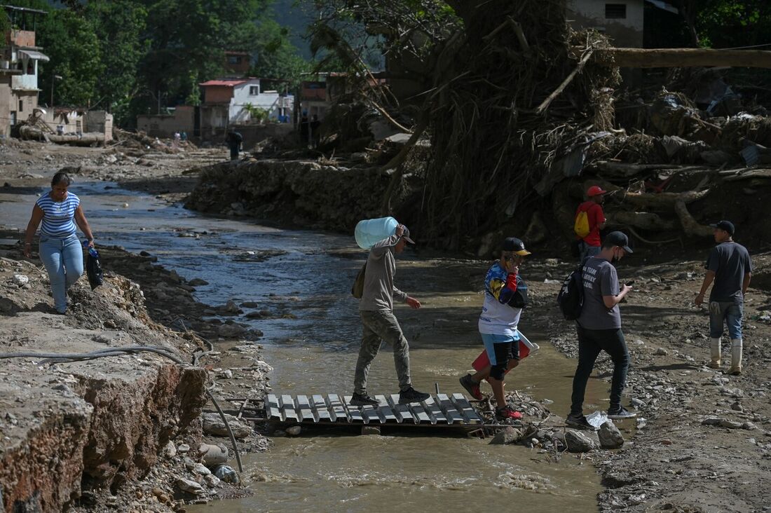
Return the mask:
<svg viewBox="0 0 771 513">
<path fill-rule="evenodd" d="M 257 123 L 254 108 L 267 113 L 268 120 L 291 122 L 294 96 L 277 90 L 262 90 L 261 79 L 217 79 L 201 83 L 204 101 L 200 105 L 203 137 L 222 135 L 234 124 Z"/>
</svg>

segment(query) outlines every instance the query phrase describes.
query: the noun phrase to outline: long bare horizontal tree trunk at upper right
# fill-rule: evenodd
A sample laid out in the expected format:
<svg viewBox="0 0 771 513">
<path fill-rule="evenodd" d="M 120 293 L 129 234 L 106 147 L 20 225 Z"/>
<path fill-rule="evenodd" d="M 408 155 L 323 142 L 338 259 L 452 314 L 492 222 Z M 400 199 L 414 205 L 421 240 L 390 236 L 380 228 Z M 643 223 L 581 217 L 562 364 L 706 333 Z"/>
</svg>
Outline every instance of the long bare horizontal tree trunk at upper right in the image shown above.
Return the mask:
<svg viewBox="0 0 771 513">
<path fill-rule="evenodd" d="M 771 51 L 711 48 L 603 48 L 594 51 L 594 62 L 601 66 L 618 66 L 619 68 L 697 66 L 771 68 Z"/>
</svg>

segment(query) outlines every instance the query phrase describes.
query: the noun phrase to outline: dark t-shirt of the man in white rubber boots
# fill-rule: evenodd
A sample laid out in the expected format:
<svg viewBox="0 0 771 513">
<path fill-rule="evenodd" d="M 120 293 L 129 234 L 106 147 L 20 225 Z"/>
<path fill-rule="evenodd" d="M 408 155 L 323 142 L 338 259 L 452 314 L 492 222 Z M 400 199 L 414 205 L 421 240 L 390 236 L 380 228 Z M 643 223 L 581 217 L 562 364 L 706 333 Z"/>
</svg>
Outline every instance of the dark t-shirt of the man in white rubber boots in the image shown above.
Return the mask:
<svg viewBox="0 0 771 513">
<path fill-rule="evenodd" d="M 752 272 L 747 248 L 736 242 L 722 242 L 712 248 L 705 267 L 715 272 L 709 301 L 744 302 L 742 282 L 744 275 Z"/>
</svg>

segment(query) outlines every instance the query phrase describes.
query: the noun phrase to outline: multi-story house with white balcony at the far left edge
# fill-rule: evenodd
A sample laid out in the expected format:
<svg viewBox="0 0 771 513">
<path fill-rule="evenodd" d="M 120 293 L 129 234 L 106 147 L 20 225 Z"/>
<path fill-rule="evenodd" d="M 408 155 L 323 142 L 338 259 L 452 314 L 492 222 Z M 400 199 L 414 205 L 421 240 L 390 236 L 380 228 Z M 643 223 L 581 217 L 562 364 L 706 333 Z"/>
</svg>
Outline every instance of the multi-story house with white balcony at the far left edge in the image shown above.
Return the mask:
<svg viewBox="0 0 771 513">
<path fill-rule="evenodd" d="M 3 5 L 9 28 L 0 56 L 0 134 L 8 135 L 38 106 L 38 63 L 49 58 L 35 46 L 35 25 L 45 11 Z"/>
</svg>

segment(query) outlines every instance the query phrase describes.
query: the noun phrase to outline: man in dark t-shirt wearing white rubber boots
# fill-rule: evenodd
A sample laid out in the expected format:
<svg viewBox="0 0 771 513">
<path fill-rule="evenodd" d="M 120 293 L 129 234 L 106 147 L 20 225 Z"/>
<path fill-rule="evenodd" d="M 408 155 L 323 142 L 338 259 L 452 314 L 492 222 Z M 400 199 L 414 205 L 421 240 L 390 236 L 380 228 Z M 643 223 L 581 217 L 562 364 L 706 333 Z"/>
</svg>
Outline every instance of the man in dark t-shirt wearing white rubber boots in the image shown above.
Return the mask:
<svg viewBox="0 0 771 513">
<path fill-rule="evenodd" d="M 720 221 L 710 226 L 714 228 L 717 245 L 709 252 L 705 264 L 707 272 L 695 303 L 702 305 L 709 285 L 714 282 L 712 292 L 709 292 L 709 366 L 720 368 L 720 339 L 725 323 L 731 337 L 731 367 L 728 373 L 739 375 L 742 373 L 744 296 L 752 278 L 752 261 L 747 248 L 733 241 L 734 225 L 731 221 Z"/>
</svg>

